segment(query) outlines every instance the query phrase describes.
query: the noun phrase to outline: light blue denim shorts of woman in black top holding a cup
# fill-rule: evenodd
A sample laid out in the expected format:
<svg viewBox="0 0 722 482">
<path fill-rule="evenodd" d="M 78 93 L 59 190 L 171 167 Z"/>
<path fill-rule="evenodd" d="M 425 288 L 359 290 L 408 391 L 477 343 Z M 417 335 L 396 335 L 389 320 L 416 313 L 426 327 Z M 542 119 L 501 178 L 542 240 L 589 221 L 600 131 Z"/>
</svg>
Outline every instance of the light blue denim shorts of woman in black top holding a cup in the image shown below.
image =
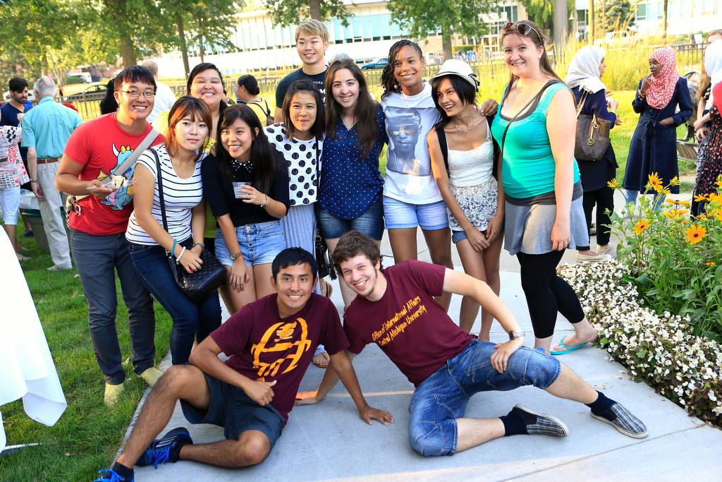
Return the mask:
<svg viewBox="0 0 722 482">
<path fill-rule="evenodd" d="M 246 266 L 256 264 L 269 264 L 286 247 L 280 221 L 267 221 L 266 223 L 247 224 L 235 228 L 240 252 Z M 216 230 L 216 257 L 224 266 L 233 266 L 228 246 L 220 228 Z"/>
</svg>

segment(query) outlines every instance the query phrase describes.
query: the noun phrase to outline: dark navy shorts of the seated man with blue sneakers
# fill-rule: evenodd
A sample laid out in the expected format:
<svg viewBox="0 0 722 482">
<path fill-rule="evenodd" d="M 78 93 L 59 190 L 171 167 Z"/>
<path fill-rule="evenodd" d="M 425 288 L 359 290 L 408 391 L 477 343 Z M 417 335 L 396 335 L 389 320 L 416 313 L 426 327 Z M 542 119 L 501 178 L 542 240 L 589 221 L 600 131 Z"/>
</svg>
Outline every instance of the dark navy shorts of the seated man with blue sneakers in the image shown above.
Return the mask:
<svg viewBox="0 0 722 482">
<path fill-rule="evenodd" d="M 181 409 L 186 420 L 191 423 L 211 423 L 223 427 L 223 435 L 228 440 L 238 440 L 243 432 L 258 430 L 268 437 L 273 449 L 281 436 L 284 423 L 279 411 L 270 403 L 258 405 L 234 385 L 208 374 L 204 376 L 211 393 L 208 409 L 200 410 L 186 400 L 181 400 Z"/>
</svg>

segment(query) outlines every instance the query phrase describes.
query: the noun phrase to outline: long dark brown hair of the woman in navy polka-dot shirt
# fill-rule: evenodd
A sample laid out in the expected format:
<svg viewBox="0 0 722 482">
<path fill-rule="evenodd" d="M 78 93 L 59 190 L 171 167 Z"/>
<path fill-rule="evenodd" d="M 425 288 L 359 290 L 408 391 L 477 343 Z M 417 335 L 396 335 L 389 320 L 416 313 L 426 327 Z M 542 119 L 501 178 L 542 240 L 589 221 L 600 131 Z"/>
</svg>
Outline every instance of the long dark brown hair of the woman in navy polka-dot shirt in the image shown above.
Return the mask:
<svg viewBox="0 0 722 482">
<path fill-rule="evenodd" d="M 376 125 L 376 108 L 378 104 L 368 92 L 366 79 L 352 59 L 341 59 L 331 62 L 326 71 L 326 135 L 332 139 L 336 137 L 336 123 L 341 119 L 341 106 L 333 95 L 334 77 L 339 70 L 348 69 L 359 84 L 359 97 L 356 102 L 356 129 L 359 143 L 364 146 L 362 159 L 365 159 L 373 149 L 378 138 Z"/>
</svg>

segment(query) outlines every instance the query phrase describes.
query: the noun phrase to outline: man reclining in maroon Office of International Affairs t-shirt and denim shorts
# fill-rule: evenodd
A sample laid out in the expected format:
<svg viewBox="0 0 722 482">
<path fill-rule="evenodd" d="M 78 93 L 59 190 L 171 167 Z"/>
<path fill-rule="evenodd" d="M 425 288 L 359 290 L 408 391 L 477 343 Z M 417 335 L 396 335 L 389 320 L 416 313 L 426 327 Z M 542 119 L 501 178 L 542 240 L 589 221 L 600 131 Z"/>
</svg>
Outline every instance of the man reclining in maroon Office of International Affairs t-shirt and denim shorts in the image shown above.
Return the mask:
<svg viewBox="0 0 722 482">
<path fill-rule="evenodd" d="M 344 234 L 334 264 L 357 298 L 344 314 L 349 351 L 376 343 L 416 387 L 409 407 L 409 441 L 421 455 L 453 455 L 501 436 L 566 436 L 557 418 L 516 405 L 500 418 L 464 416 L 477 392 L 513 390 L 525 385 L 586 404 L 591 416 L 622 434 L 641 439 L 647 428 L 620 403 L 597 392 L 564 364 L 523 346 L 523 332 L 511 311 L 483 281 L 438 264 L 407 261 L 381 270 L 373 239 Z M 471 296 L 509 333 L 507 343 L 484 343 L 461 330 L 434 296 L 443 292 Z M 327 371 L 316 403 L 336 384 Z"/>
</svg>

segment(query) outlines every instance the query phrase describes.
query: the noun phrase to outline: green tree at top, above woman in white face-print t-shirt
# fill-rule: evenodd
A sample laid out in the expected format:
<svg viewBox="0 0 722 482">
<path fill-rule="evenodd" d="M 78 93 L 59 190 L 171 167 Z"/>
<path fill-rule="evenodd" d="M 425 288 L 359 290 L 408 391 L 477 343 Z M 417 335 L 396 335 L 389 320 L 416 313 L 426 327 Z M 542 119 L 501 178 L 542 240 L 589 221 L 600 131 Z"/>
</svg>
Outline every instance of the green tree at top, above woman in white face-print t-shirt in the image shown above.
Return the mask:
<svg viewBox="0 0 722 482">
<path fill-rule="evenodd" d="M 391 0 L 393 22 L 414 38 L 441 31 L 444 56 L 451 59 L 451 36 L 481 36 L 487 31 L 482 14 L 490 12 L 491 0 Z"/>
</svg>

